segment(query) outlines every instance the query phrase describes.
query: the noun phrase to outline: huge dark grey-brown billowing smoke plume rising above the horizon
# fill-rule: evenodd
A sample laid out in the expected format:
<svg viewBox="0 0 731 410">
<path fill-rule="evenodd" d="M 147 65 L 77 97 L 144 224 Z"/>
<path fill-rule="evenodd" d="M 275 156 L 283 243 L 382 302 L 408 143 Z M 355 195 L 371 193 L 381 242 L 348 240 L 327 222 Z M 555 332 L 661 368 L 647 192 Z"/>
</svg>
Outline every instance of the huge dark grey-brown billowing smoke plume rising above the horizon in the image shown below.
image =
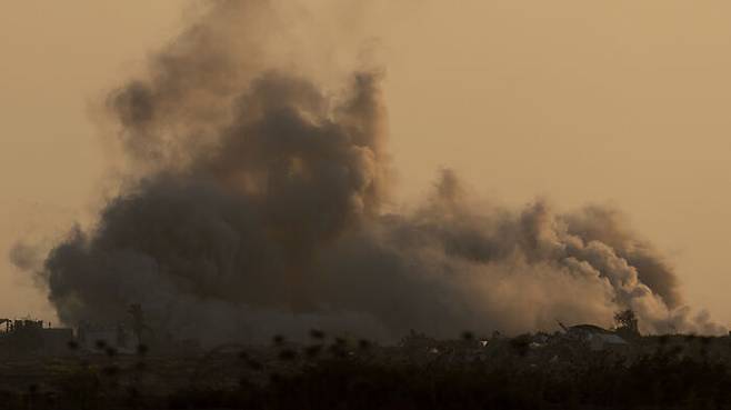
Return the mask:
<svg viewBox="0 0 731 410">
<path fill-rule="evenodd" d="M 723 330 L 689 317 L 675 274 L 615 211 L 477 206 L 445 170 L 415 211 L 388 213 L 381 74 L 326 91 L 260 47 L 273 8 L 217 4 L 109 97 L 134 178 L 46 260 L 63 322 L 140 303 L 178 334 L 393 340 L 609 326 L 631 308 L 644 331 Z"/>
</svg>

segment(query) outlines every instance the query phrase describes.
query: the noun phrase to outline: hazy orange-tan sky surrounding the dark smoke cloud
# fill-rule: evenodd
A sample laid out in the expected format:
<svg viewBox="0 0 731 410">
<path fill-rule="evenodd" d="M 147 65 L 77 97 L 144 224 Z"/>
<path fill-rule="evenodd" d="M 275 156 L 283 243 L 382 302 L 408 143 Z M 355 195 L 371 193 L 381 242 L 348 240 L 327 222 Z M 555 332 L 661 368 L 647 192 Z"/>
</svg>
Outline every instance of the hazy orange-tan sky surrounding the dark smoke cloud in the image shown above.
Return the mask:
<svg viewBox="0 0 731 410">
<path fill-rule="evenodd" d="M 92 214 L 106 171 L 93 107 L 174 36 L 186 4 L 2 6 L 0 252 L 19 238 L 50 241 Z M 359 10 L 359 36 L 378 39 L 388 70 L 401 199 L 449 167 L 507 204 L 537 196 L 562 208 L 610 202 L 678 268 L 688 301 L 728 326 L 731 6 L 454 4 Z M 332 24 L 329 40 L 348 27 Z M 3 260 L 0 317 L 28 313 L 50 310 Z"/>
</svg>

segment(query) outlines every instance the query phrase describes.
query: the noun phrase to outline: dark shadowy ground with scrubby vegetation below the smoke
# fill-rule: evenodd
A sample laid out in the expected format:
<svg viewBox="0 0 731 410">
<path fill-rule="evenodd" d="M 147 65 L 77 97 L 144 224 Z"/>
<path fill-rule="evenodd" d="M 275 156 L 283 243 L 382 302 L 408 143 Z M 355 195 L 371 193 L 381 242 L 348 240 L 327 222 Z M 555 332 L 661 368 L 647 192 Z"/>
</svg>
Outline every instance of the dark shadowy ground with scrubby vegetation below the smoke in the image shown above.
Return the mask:
<svg viewBox="0 0 731 410">
<path fill-rule="evenodd" d="M 731 409 L 731 339 L 330 339 L 187 354 L 2 352 L 0 409 Z"/>
</svg>

